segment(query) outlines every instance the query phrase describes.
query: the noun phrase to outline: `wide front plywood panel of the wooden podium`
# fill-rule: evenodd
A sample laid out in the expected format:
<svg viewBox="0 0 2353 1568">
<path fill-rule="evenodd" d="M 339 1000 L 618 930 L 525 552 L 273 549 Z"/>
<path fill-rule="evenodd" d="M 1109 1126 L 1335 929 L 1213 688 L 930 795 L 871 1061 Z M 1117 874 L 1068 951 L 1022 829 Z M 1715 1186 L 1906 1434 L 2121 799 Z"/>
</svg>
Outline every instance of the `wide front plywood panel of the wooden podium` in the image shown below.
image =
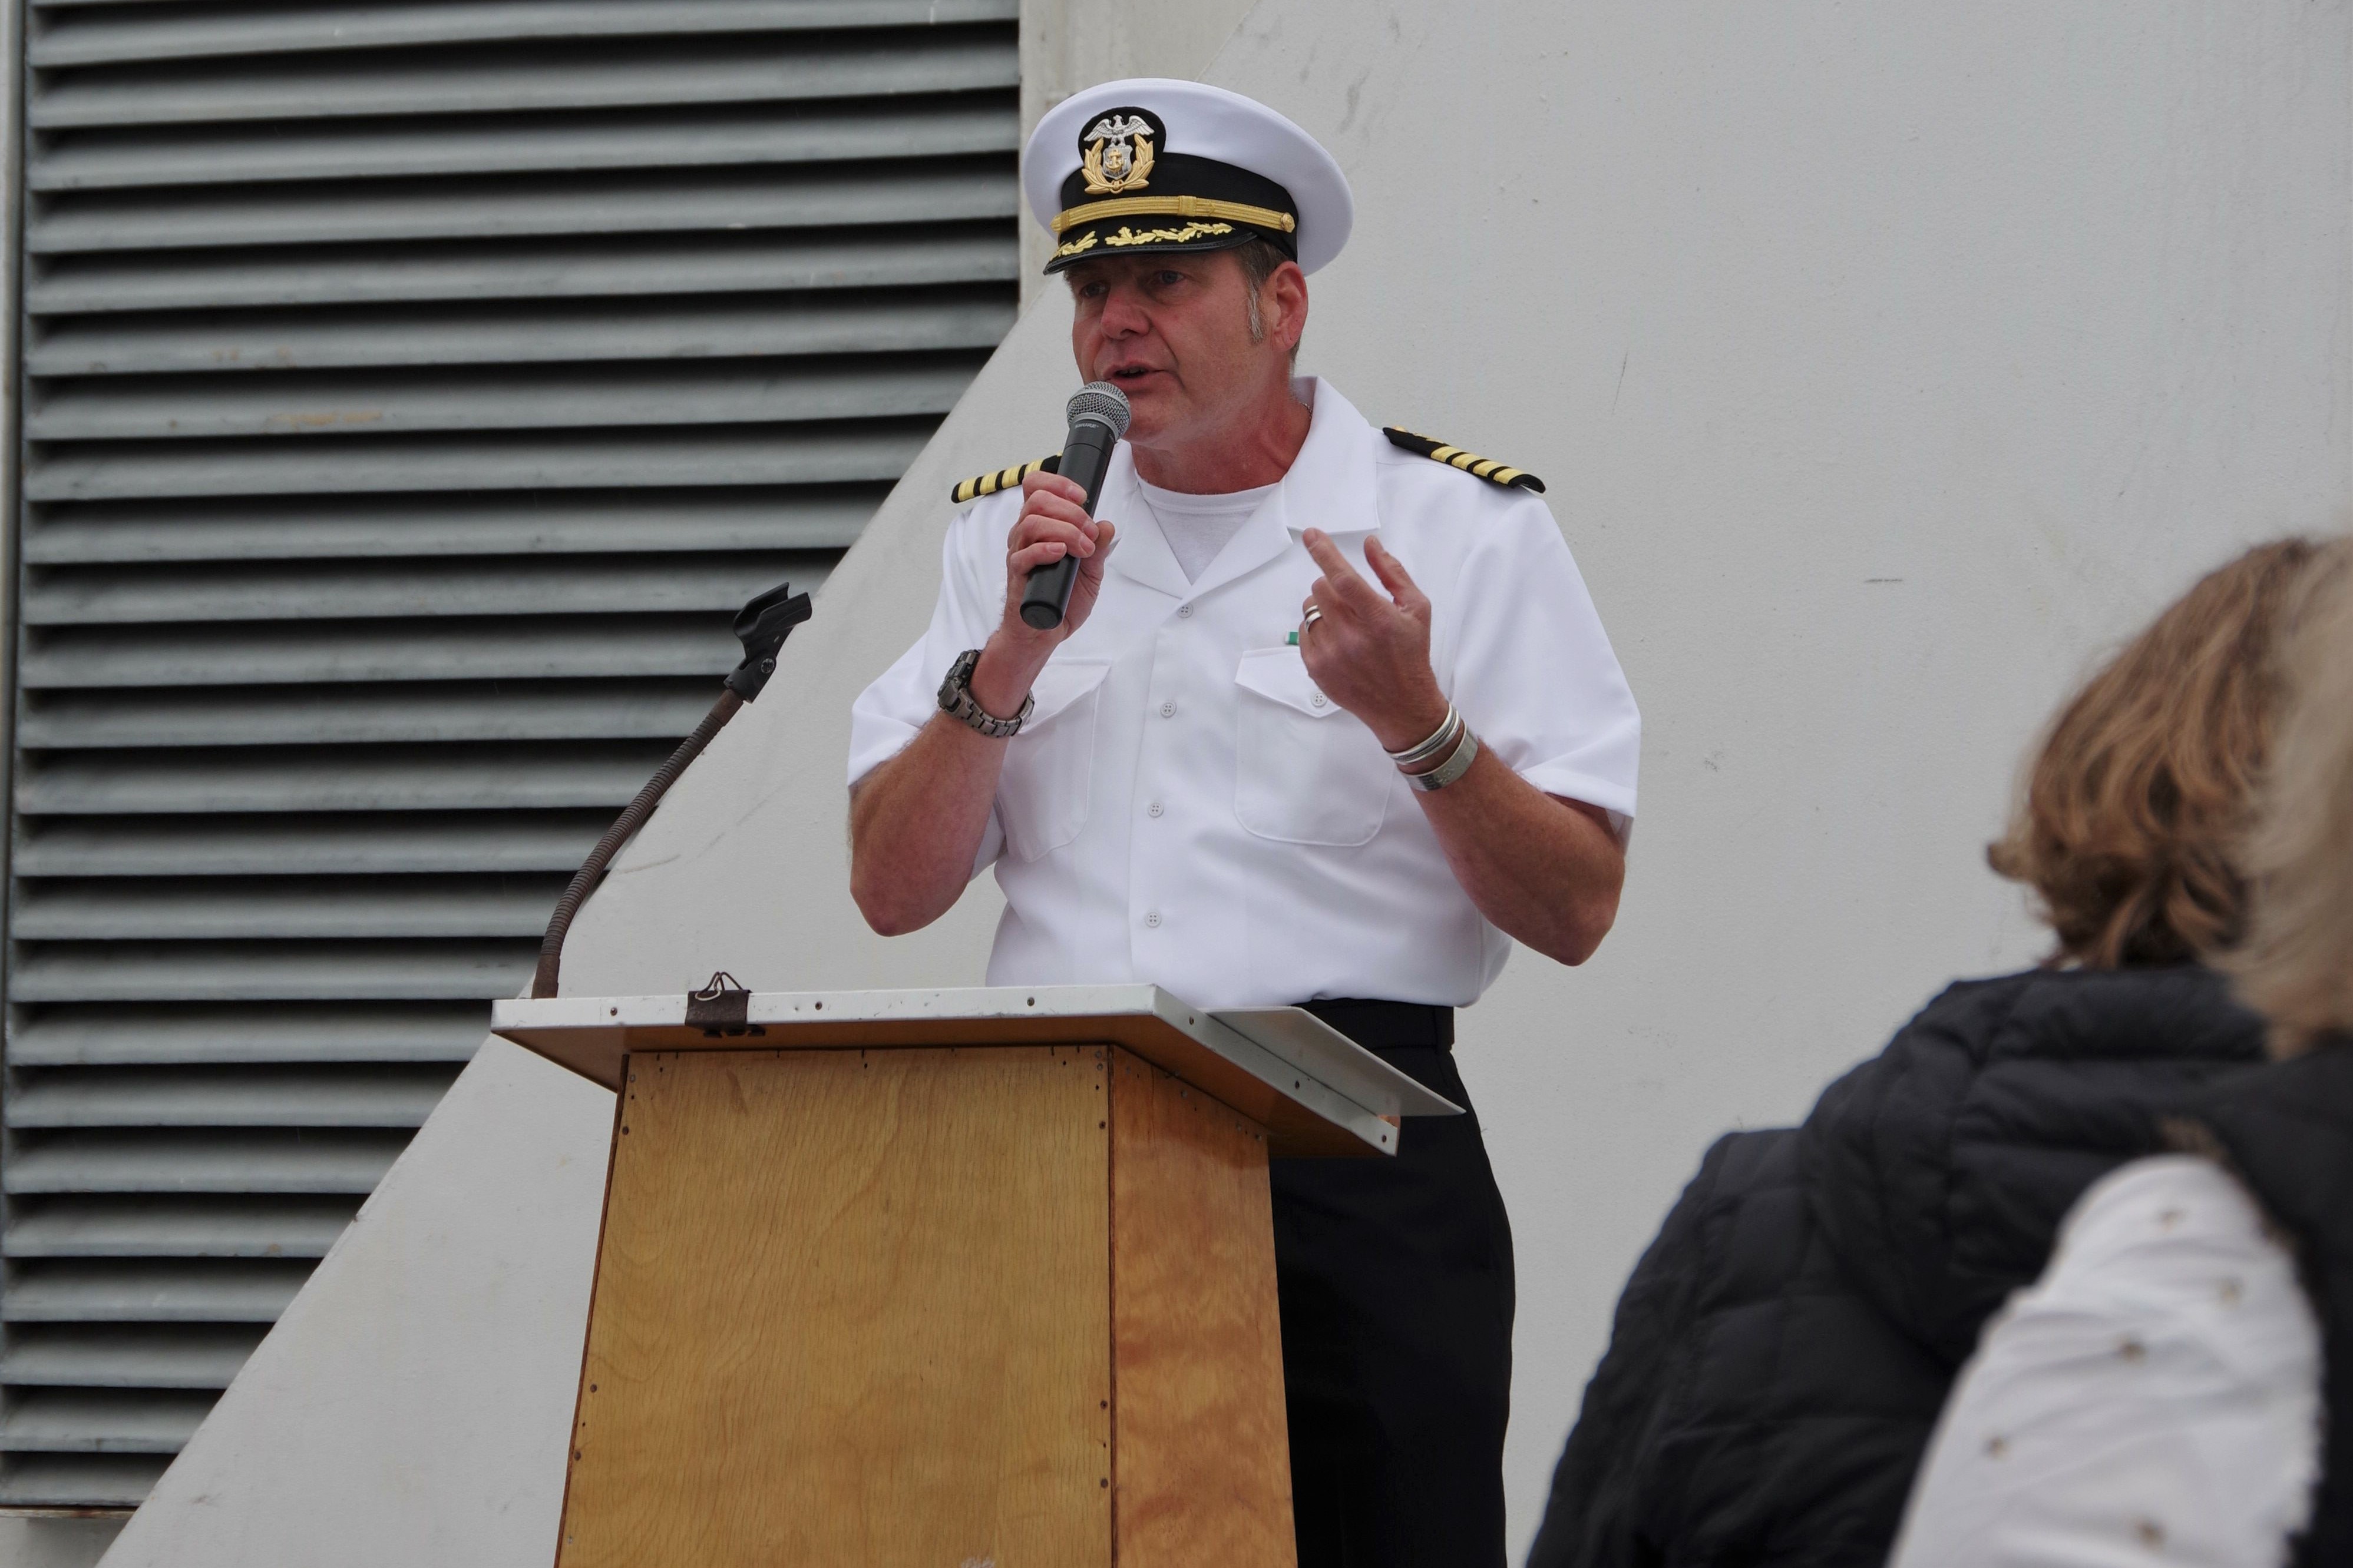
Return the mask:
<svg viewBox="0 0 2353 1568">
<path fill-rule="evenodd" d="M 558 1563 L 1113 1561 L 1106 1077 L 633 1056 Z"/>
</svg>

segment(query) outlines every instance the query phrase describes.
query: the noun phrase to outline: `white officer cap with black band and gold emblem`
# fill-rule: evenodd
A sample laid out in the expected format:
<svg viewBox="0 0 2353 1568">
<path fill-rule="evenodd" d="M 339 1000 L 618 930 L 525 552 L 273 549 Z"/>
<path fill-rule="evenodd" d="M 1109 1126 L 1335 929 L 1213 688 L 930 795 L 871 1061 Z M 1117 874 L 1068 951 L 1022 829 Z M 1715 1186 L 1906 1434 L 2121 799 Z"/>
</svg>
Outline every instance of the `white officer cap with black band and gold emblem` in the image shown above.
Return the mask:
<svg viewBox="0 0 2353 1568">
<path fill-rule="evenodd" d="M 1247 240 L 1313 273 L 1355 221 L 1348 179 L 1313 136 L 1238 92 L 1165 78 L 1104 82 L 1049 108 L 1021 155 L 1021 190 L 1054 235 L 1047 273 Z"/>
</svg>

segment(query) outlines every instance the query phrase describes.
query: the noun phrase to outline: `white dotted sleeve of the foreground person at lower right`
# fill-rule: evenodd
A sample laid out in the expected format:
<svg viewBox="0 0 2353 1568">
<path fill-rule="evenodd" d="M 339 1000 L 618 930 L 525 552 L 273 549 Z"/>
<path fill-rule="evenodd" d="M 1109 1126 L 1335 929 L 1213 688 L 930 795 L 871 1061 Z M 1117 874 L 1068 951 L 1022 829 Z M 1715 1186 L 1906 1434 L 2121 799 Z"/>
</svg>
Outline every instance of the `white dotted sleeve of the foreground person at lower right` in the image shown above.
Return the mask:
<svg viewBox="0 0 2353 1568">
<path fill-rule="evenodd" d="M 1979 1340 L 1892 1568 L 2287 1561 L 2320 1462 L 2320 1328 L 2221 1166 L 2141 1159 L 2082 1194 Z"/>
</svg>

